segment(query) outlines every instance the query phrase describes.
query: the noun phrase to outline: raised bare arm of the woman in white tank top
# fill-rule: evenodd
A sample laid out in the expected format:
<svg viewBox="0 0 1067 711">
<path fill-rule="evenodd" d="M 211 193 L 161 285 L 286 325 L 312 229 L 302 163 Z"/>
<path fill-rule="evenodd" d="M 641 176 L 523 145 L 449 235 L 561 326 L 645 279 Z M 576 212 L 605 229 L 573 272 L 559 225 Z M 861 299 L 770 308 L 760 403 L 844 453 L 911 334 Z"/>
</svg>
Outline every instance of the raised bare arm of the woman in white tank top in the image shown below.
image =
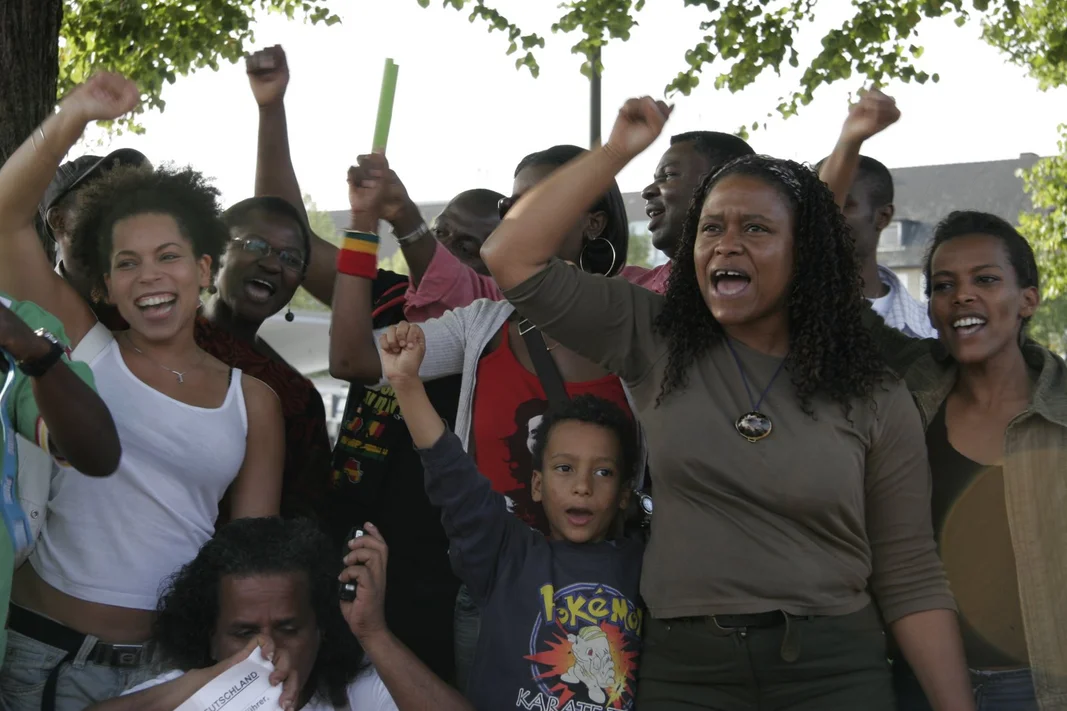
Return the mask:
<svg viewBox="0 0 1067 711">
<path fill-rule="evenodd" d="M 0 290 L 54 314 L 75 346 L 96 322 L 89 304 L 53 270 L 33 226 L 60 161 L 92 121 L 117 118 L 140 100 L 137 85 L 97 74 L 60 104 L 0 169 Z"/>
</svg>

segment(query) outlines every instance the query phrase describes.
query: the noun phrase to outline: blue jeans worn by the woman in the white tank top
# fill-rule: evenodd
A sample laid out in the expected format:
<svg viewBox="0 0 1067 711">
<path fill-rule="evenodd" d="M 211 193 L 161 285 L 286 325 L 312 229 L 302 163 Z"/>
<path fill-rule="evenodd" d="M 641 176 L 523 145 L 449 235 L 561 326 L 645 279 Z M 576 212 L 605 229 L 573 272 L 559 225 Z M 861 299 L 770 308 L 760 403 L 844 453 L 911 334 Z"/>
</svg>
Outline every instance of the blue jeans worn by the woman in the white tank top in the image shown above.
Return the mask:
<svg viewBox="0 0 1067 711">
<path fill-rule="evenodd" d="M 91 647 L 85 647 L 85 653 Z M 64 657 L 62 649 L 9 630 L 7 654 L 0 670 L 0 709 L 39 711 L 45 681 Z M 60 672 L 55 711 L 84 711 L 155 676 L 148 666 L 120 669 L 86 662 L 81 654 Z"/>
</svg>

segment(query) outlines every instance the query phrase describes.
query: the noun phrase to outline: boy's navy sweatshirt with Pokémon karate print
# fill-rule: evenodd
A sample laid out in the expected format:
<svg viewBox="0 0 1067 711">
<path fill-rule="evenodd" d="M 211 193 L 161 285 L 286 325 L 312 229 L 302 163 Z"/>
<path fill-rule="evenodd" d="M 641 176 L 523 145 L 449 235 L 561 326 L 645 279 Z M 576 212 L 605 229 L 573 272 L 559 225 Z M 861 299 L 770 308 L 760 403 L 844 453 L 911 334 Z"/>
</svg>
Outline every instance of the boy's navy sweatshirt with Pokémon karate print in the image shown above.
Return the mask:
<svg viewBox="0 0 1067 711">
<path fill-rule="evenodd" d="M 475 707 L 633 708 L 644 547 L 546 539 L 508 512 L 451 432 L 420 454 L 452 566 L 481 609 L 467 686 Z"/>
</svg>

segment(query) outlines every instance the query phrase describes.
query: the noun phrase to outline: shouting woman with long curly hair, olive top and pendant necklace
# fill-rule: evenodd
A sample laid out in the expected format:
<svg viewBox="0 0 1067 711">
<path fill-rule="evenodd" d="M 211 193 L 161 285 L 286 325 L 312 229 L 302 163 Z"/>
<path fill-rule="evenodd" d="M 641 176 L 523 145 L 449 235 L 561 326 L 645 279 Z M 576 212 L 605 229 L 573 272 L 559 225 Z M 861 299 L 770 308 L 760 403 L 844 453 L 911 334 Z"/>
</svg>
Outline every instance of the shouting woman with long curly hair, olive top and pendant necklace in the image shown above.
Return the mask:
<svg viewBox="0 0 1067 711">
<path fill-rule="evenodd" d="M 623 379 L 648 432 L 637 706 L 889 711 L 883 619 L 934 707 L 973 709 L 922 424 L 815 173 L 750 156 L 702 180 L 664 296 L 553 258 L 669 114 L 627 101 L 482 249 L 524 317 Z"/>
</svg>

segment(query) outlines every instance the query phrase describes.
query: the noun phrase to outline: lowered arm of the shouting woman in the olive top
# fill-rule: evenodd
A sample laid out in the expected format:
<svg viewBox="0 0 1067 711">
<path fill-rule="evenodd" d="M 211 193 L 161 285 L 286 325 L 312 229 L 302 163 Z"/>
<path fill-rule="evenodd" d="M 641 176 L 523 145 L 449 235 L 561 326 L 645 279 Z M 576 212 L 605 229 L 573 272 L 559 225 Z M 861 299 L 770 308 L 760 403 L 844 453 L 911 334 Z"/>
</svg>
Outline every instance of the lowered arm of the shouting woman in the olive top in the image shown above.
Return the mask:
<svg viewBox="0 0 1067 711">
<path fill-rule="evenodd" d="M 934 542 L 930 473 L 911 396 L 893 383 L 866 460 L 871 587 L 935 711 L 972 711 L 956 604 Z"/>
</svg>

